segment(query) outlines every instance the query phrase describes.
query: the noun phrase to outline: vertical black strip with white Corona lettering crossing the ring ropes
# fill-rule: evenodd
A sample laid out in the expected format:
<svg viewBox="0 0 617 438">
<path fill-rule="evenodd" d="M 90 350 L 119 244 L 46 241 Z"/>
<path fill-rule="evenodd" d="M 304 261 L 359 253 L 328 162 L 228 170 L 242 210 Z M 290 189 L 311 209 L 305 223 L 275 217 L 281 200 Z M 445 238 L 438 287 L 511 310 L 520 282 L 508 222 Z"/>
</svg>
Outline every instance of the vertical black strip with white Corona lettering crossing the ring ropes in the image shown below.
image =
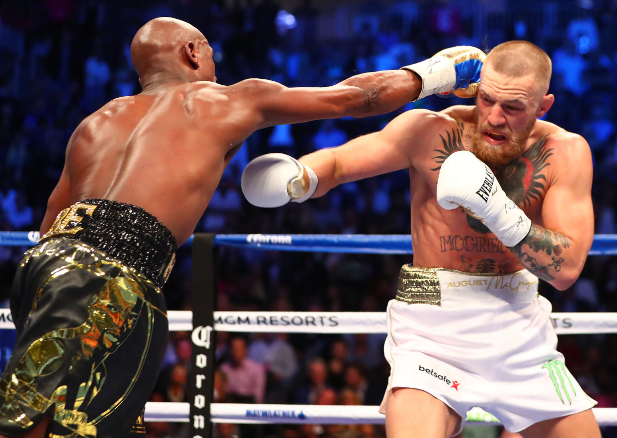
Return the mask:
<svg viewBox="0 0 617 438">
<path fill-rule="evenodd" d="M 214 234 L 193 236 L 193 331 L 189 371 L 189 423 L 192 438 L 212 438 L 210 404 L 216 364 L 217 337 L 214 311 L 217 308 L 218 250 Z"/>
</svg>

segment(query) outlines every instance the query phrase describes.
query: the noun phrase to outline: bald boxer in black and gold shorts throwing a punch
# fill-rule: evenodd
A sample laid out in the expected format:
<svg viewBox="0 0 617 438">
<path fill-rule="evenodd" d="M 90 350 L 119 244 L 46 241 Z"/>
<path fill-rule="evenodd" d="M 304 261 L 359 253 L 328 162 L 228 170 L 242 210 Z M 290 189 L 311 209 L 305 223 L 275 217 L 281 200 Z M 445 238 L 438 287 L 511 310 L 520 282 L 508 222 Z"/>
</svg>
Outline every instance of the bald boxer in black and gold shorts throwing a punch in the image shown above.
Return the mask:
<svg viewBox="0 0 617 438">
<path fill-rule="evenodd" d="M 408 70 L 322 88 L 263 79 L 223 86 L 212 53 L 188 23 L 151 20 L 131 44 L 141 93 L 112 100 L 73 132 L 43 237 L 12 290 L 17 346 L 0 378 L 2 436 L 144 436 L 140 413 L 167 341 L 161 287 L 176 245 L 252 132 L 381 114 L 479 76 L 477 63 L 455 71 L 442 57 L 452 87 Z"/>
</svg>

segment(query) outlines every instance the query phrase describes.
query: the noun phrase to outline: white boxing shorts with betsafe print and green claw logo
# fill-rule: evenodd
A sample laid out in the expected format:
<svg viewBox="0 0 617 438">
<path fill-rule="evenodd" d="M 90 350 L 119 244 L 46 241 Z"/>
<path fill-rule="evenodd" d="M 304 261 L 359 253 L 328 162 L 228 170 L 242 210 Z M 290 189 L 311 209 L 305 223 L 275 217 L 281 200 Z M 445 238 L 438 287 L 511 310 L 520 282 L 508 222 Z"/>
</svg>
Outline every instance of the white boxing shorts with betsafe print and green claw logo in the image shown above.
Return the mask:
<svg viewBox="0 0 617 438">
<path fill-rule="evenodd" d="M 537 285 L 528 270 L 403 266 L 387 307 L 391 372 L 379 412 L 395 387 L 426 391 L 463 420 L 482 408 L 510 432 L 593 407 L 556 349 L 552 307 Z"/>
</svg>

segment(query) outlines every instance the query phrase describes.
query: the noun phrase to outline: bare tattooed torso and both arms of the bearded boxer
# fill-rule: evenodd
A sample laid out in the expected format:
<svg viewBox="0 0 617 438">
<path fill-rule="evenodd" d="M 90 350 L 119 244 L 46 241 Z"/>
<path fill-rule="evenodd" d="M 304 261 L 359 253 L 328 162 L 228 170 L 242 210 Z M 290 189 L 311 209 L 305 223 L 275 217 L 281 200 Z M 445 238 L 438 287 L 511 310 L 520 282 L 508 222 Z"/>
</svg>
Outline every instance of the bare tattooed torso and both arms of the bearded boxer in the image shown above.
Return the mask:
<svg viewBox="0 0 617 438">
<path fill-rule="evenodd" d="M 300 158 L 319 177 L 313 197 L 344 182 L 408 169 L 415 266 L 489 273 L 526 267 L 565 289 L 580 274 L 593 239 L 589 145 L 578 134 L 537 120 L 520 155 L 491 166 L 508 197 L 533 223 L 528 237 L 508 249 L 463 208 L 445 210 L 437 204 L 441 163 L 456 150 L 473 151 L 476 108 L 411 110 L 382 131 Z"/>
</svg>

